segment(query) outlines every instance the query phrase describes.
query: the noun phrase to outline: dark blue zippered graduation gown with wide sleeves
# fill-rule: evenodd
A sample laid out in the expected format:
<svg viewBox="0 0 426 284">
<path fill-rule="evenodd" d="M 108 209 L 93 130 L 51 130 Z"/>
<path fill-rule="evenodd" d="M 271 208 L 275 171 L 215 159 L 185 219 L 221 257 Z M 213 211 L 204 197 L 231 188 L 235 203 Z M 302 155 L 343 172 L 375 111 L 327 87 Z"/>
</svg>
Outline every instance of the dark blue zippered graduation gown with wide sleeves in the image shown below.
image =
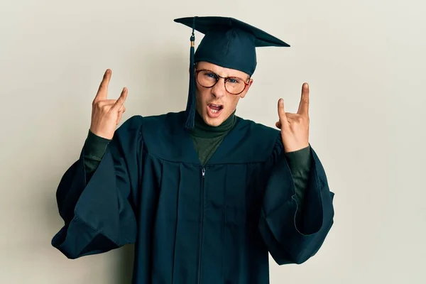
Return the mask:
<svg viewBox="0 0 426 284">
<path fill-rule="evenodd" d="M 311 148 L 303 210 L 280 132 L 237 118 L 202 165 L 183 112 L 133 116 L 90 180 L 80 158 L 57 191 L 68 258 L 135 244 L 133 283 L 269 283 L 268 252 L 303 263 L 333 224 L 333 196 Z"/>
</svg>

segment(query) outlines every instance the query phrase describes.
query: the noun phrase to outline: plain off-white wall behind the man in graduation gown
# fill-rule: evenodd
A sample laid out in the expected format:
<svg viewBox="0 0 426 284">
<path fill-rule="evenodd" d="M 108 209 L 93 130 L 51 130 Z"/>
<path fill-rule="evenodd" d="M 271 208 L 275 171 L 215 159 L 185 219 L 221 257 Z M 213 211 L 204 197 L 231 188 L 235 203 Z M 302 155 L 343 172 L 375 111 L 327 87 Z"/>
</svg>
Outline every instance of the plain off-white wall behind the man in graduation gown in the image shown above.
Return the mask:
<svg viewBox="0 0 426 284">
<path fill-rule="evenodd" d="M 271 127 L 310 83 L 310 143 L 335 223 L 271 283 L 426 283 L 425 1 L 0 2 L 0 283 L 129 283 L 132 246 L 70 261 L 50 246 L 55 190 L 78 158 L 104 70 L 124 120 L 185 108 L 185 16 L 232 16 L 290 48 L 258 48 L 239 116 Z M 202 35 L 196 34 L 197 43 Z"/>
</svg>

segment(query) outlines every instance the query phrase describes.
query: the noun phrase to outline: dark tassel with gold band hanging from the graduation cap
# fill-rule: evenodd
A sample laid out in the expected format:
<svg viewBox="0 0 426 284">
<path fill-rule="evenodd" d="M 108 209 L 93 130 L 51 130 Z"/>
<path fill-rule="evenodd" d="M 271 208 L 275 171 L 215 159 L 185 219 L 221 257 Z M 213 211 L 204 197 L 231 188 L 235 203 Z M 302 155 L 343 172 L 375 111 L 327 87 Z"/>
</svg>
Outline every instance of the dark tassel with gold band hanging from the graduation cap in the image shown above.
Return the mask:
<svg viewBox="0 0 426 284">
<path fill-rule="evenodd" d="M 194 53 L 195 53 L 195 17 L 192 22 L 192 35 L 190 38 L 191 48 L 190 48 L 190 88 L 188 90 L 188 100 L 186 108 L 186 118 L 185 129 L 192 129 L 194 127 L 195 119 L 195 63 L 194 63 Z"/>
</svg>

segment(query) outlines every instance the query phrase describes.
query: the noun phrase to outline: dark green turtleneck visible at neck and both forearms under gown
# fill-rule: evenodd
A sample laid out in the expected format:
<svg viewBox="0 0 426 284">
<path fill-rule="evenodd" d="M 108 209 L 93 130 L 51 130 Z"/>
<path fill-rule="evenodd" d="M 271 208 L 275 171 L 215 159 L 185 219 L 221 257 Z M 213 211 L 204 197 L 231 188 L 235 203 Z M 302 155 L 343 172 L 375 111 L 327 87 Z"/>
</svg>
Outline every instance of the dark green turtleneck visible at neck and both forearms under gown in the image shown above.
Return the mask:
<svg viewBox="0 0 426 284">
<path fill-rule="evenodd" d="M 209 126 L 205 124 L 202 117 L 196 113 L 195 128 L 192 129 L 191 136 L 202 165 L 205 165 L 209 158 L 212 157 L 223 138 L 234 127 L 235 122 L 235 111 L 220 126 Z M 109 141 L 110 140 L 96 136 L 89 131 L 84 143 L 84 167 L 86 170 L 87 182 L 102 160 Z M 312 158 L 310 155 L 310 146 L 299 151 L 285 153 L 285 158 L 288 161 L 290 171 L 293 175 L 296 193 L 295 199 L 297 204 L 300 205 L 297 211 L 300 212 L 311 167 Z"/>
</svg>

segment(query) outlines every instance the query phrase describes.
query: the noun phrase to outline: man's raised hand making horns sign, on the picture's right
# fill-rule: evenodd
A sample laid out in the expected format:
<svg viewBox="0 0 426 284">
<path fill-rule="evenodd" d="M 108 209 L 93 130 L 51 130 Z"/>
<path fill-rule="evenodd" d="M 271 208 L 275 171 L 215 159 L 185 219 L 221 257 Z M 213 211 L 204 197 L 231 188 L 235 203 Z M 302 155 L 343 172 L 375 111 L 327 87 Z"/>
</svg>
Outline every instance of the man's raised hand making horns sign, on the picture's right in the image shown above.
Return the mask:
<svg viewBox="0 0 426 284">
<path fill-rule="evenodd" d="M 302 85 L 302 96 L 297 114 L 285 112 L 284 100 L 280 99 L 278 117 L 279 121 L 275 126 L 281 129 L 285 153 L 309 146 L 309 86 L 307 83 Z"/>
</svg>

